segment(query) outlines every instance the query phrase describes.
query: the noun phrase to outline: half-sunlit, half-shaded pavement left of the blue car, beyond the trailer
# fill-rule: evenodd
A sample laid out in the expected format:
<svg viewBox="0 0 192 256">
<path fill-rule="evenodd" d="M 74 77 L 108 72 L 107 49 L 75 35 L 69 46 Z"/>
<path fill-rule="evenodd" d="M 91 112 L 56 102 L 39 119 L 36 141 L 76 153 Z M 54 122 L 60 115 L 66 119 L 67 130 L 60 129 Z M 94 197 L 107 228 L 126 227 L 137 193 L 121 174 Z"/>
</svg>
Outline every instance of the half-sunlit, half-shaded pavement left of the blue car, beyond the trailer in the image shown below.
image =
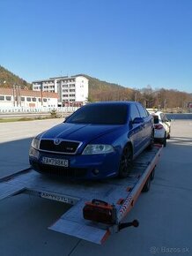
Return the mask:
<svg viewBox="0 0 192 256">
<path fill-rule="evenodd" d="M 63 118 L 0 124 L 0 177 L 29 167 L 28 152 L 38 133 L 63 122 Z"/>
</svg>

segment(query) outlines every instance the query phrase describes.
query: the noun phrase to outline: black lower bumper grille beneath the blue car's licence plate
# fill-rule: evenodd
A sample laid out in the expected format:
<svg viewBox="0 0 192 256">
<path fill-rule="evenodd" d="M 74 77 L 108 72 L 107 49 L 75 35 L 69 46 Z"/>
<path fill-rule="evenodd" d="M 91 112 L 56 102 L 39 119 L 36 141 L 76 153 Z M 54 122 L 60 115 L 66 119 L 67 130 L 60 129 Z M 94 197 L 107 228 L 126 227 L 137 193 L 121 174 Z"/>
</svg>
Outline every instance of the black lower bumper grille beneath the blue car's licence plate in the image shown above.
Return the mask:
<svg viewBox="0 0 192 256">
<path fill-rule="evenodd" d="M 87 169 L 85 168 L 64 168 L 60 166 L 53 166 L 42 164 L 38 162 L 32 162 L 33 169 L 41 172 L 43 174 L 47 174 L 52 177 L 77 177 L 83 178 L 87 174 Z"/>
</svg>

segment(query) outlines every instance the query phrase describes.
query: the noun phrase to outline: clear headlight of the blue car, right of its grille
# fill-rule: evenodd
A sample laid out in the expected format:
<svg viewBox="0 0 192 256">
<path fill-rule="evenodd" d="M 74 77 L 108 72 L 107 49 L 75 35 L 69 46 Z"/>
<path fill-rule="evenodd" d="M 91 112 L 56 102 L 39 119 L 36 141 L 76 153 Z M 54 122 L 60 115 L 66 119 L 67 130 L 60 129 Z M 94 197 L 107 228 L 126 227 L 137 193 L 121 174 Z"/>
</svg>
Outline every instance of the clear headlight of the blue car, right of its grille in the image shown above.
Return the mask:
<svg viewBox="0 0 192 256">
<path fill-rule="evenodd" d="M 104 144 L 89 144 L 82 154 L 107 154 L 114 152 L 114 147 Z"/>
</svg>

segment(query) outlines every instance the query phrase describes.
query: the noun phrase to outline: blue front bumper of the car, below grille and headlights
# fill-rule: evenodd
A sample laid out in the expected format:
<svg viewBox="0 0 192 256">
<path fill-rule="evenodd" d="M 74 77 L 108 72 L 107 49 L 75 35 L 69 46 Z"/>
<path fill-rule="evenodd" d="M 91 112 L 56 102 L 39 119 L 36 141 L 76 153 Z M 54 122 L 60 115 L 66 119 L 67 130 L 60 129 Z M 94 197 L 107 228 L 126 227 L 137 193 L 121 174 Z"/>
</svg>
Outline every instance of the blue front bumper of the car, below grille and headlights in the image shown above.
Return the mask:
<svg viewBox="0 0 192 256">
<path fill-rule="evenodd" d="M 35 150 L 34 150 L 35 151 Z M 54 164 L 45 164 L 42 159 L 66 160 L 68 167 Z M 49 176 L 74 178 L 74 179 L 102 179 L 118 175 L 120 154 L 50 154 L 36 152 L 29 156 L 29 162 L 33 169 Z"/>
</svg>

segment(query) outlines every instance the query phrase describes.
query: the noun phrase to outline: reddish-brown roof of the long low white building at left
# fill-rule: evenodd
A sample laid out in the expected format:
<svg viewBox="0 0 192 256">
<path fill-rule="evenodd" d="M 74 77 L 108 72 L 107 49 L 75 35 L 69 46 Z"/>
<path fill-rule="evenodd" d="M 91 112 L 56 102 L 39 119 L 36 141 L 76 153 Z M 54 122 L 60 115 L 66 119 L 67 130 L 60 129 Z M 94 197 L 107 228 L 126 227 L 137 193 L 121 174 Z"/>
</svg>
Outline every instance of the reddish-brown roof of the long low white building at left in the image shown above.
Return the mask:
<svg viewBox="0 0 192 256">
<path fill-rule="evenodd" d="M 1 95 L 13 95 L 13 89 L 12 88 L 3 88 L 0 87 L 0 94 Z M 50 92 L 41 92 L 41 91 L 33 91 L 33 90 L 20 90 L 21 96 L 30 96 L 30 97 L 44 97 L 44 98 L 58 98 L 57 93 L 50 93 Z"/>
</svg>

